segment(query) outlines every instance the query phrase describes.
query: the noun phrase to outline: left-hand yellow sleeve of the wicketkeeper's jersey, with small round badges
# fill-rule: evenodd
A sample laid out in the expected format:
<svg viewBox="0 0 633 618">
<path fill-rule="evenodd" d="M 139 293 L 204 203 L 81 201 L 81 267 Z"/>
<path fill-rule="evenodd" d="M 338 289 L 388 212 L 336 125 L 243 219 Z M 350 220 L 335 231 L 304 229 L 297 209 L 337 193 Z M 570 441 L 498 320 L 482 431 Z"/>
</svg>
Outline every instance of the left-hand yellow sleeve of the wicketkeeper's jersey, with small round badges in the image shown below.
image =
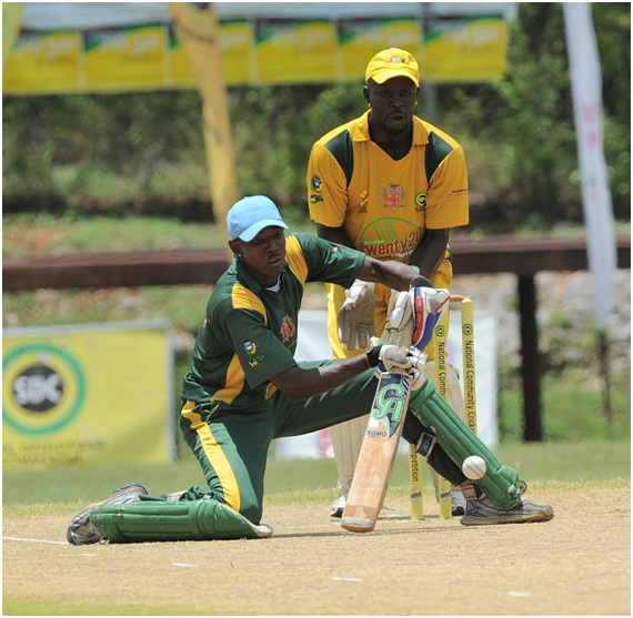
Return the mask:
<svg viewBox="0 0 633 618">
<path fill-rule="evenodd" d="M 332 153 L 316 142 L 308 163 L 308 206 L 310 219 L 328 227 L 340 227 L 348 209 L 345 174 Z"/>
</svg>

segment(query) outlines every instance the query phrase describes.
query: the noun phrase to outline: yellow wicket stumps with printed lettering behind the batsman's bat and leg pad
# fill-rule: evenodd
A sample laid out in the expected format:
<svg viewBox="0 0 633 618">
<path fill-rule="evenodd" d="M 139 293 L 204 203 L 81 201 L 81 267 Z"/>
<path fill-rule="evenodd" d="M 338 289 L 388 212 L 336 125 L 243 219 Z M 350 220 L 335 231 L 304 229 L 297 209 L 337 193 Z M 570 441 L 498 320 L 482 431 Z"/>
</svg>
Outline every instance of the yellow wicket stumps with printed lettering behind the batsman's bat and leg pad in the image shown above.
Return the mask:
<svg viewBox="0 0 633 618">
<path fill-rule="evenodd" d="M 462 388 L 464 396 L 464 421 L 476 434 L 476 388 L 475 388 L 475 356 L 474 356 L 474 316 L 473 302 L 470 296 L 451 295 L 452 304 L 461 305 L 462 317 Z M 433 348 L 435 352 L 435 388 L 445 399 L 449 397 L 448 388 L 448 351 L 449 311 L 444 312 L 442 320 L 435 325 L 433 332 Z M 456 411 L 459 414 L 459 411 Z M 424 519 L 424 505 L 422 500 L 422 463 L 423 457 L 409 446 L 409 479 L 411 488 L 411 519 Z M 440 518 L 452 517 L 451 483 L 439 477 Z"/>
</svg>

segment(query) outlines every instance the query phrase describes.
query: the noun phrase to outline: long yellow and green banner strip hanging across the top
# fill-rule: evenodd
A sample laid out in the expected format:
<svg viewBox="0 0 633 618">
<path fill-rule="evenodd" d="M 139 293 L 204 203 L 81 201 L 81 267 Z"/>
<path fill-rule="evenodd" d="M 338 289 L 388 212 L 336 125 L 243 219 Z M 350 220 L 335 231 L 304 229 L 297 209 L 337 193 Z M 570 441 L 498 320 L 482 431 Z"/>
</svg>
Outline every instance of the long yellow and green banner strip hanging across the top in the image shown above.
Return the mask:
<svg viewBox="0 0 633 618">
<path fill-rule="evenodd" d="M 150 2 L 145 9 L 142 3 L 123 2 L 24 4 L 26 27 L 2 75 L 4 94 L 197 87 L 195 70 L 174 36 L 169 10 L 181 20 L 198 11 L 193 17 L 198 31 L 203 29 L 207 4 Z M 329 9 L 323 2 L 312 11 L 302 3 L 285 8 L 259 3 L 251 7 L 250 17 L 235 17 L 240 3 L 209 7 L 219 10 L 220 64 L 227 85 L 363 80 L 372 55 L 390 47 L 415 55 L 421 78 L 430 82 L 486 81 L 506 73 L 508 3 L 471 4 L 498 11 L 488 14 L 473 14 L 461 3 L 454 7 L 462 13 L 442 14 L 438 11 L 442 7 L 448 11 L 450 3 L 429 4 L 432 12 L 425 17 L 421 8 L 405 3 L 379 10 L 368 4 L 353 9 L 344 2 Z"/>
</svg>

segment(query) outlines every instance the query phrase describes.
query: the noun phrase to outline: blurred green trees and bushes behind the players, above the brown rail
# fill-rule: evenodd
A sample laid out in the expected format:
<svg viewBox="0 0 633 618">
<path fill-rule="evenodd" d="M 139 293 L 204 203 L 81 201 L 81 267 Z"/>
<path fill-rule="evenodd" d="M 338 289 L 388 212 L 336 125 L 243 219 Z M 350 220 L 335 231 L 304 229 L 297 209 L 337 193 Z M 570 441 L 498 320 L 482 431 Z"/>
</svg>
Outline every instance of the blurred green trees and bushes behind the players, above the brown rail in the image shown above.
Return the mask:
<svg viewBox="0 0 633 618">
<path fill-rule="evenodd" d="M 614 213 L 630 221 L 631 7 L 592 8 Z M 522 2 L 508 77 L 438 87 L 436 122 L 466 153 L 473 233 L 583 221 L 563 26 L 561 3 Z M 229 99 L 240 192 L 270 194 L 304 223 L 311 145 L 366 110 L 362 83 L 239 87 Z M 212 221 L 193 91 L 4 97 L 2 126 L 6 213 Z"/>
</svg>

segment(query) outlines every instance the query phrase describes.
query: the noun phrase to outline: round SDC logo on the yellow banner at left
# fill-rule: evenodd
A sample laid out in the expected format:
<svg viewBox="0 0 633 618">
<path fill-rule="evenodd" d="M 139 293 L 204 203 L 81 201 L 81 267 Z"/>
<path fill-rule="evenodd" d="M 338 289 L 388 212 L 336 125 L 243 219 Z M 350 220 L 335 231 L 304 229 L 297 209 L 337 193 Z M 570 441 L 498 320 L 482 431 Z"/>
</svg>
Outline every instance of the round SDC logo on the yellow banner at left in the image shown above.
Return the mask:
<svg viewBox="0 0 633 618">
<path fill-rule="evenodd" d="M 80 412 L 86 381 L 62 347 L 29 344 L 2 361 L 2 422 L 20 434 L 54 433 Z"/>
</svg>

